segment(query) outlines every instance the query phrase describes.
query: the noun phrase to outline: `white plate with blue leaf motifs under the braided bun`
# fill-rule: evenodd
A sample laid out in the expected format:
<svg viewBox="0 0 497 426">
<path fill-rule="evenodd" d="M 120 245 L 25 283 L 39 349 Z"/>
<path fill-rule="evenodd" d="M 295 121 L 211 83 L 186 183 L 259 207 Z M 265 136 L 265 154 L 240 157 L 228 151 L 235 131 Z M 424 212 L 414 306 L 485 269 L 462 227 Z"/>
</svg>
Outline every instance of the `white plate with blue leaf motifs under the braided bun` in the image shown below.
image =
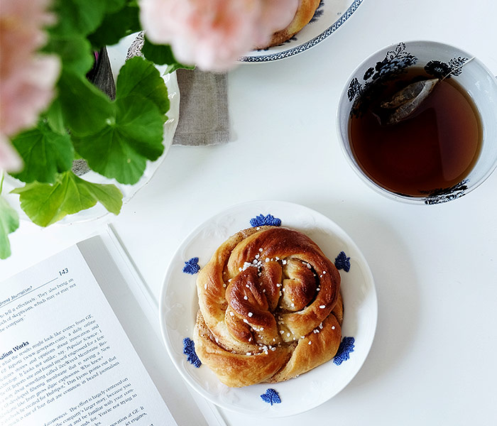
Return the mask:
<svg viewBox="0 0 497 426">
<path fill-rule="evenodd" d="M 198 310 L 197 275 L 185 273 L 186 263 L 198 258 L 204 266 L 217 247 L 229 236 L 251 226 L 251 219 L 261 224 L 268 214 L 281 220 L 281 226 L 296 229 L 310 236 L 333 261 L 344 253 L 349 258 L 348 272 L 339 269 L 342 278 L 344 322 L 342 339 L 349 342 L 345 358 L 338 357 L 297 378 L 281 383 L 268 383 L 229 388 L 222 384 L 207 366 L 196 368 L 183 354 L 183 339 L 192 338 Z M 261 216 L 262 215 L 262 216 Z M 257 226 L 257 225 L 256 225 Z M 336 263 L 337 264 L 337 263 Z M 188 269 L 188 267 L 187 267 Z M 195 272 L 195 269 L 190 272 Z M 324 403 L 339 393 L 361 368 L 373 342 L 376 329 L 377 303 L 371 271 L 356 244 L 330 219 L 307 207 L 289 202 L 261 201 L 239 204 L 217 214 L 187 236 L 176 251 L 165 274 L 160 295 L 160 326 L 168 353 L 185 381 L 208 400 L 228 410 L 263 417 L 280 417 L 302 413 Z M 353 349 L 353 351 L 351 351 Z M 280 403 L 264 402 L 268 388 L 275 389 Z"/>
</svg>

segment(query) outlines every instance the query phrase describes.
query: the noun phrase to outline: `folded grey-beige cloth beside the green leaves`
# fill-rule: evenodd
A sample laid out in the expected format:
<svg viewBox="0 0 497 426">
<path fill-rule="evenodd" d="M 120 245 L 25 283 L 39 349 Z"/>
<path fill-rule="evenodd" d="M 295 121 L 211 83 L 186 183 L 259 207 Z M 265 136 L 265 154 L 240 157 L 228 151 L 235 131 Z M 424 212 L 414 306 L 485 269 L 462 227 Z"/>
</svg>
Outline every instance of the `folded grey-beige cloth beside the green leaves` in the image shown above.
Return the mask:
<svg viewBox="0 0 497 426">
<path fill-rule="evenodd" d="M 226 74 L 177 70 L 180 118 L 173 145 L 218 145 L 229 142 Z"/>
</svg>

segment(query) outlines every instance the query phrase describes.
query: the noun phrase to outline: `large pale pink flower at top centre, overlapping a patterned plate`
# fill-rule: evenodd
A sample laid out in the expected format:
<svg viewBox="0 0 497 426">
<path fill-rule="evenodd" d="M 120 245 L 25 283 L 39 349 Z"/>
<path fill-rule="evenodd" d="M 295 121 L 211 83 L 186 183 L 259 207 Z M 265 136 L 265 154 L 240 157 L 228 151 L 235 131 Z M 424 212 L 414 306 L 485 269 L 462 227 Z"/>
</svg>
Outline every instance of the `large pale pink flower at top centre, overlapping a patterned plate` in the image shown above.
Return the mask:
<svg viewBox="0 0 497 426">
<path fill-rule="evenodd" d="M 176 59 L 222 71 L 292 21 L 298 0 L 141 0 L 141 24 Z"/>
</svg>

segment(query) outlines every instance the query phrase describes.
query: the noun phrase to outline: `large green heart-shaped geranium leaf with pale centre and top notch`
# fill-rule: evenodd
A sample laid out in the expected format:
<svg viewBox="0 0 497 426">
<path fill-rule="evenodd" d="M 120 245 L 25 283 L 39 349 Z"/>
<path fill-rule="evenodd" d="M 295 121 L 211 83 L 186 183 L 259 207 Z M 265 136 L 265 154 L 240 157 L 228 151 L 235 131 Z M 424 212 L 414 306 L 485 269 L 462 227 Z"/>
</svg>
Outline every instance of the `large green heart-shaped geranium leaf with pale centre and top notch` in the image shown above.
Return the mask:
<svg viewBox="0 0 497 426">
<path fill-rule="evenodd" d="M 158 70 L 142 58 L 121 68 L 116 100 L 69 72 L 60 78 L 60 102 L 72 142 L 92 170 L 124 184 L 138 182 L 147 160 L 164 150 L 168 91 Z"/>
</svg>

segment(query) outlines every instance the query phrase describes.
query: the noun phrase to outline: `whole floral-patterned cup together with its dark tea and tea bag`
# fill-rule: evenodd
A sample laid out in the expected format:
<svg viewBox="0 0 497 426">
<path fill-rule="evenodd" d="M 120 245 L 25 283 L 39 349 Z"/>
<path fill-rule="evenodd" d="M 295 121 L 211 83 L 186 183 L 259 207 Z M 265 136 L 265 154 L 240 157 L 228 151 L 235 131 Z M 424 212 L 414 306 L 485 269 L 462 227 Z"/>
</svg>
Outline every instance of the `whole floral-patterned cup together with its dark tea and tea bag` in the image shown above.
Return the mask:
<svg viewBox="0 0 497 426">
<path fill-rule="evenodd" d="M 497 79 L 453 46 L 378 50 L 352 73 L 337 112 L 351 167 L 394 200 L 455 200 L 497 166 Z"/>
</svg>

